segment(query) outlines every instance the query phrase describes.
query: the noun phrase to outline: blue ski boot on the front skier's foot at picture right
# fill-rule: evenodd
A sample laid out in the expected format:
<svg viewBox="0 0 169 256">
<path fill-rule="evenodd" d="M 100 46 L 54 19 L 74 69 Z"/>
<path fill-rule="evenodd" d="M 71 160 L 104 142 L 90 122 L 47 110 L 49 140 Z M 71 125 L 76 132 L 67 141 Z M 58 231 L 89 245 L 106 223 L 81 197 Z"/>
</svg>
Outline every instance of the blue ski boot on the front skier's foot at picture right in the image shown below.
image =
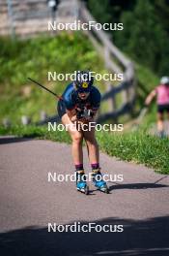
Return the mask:
<svg viewBox="0 0 169 256">
<path fill-rule="evenodd" d="M 106 182 L 103 180 L 102 175 L 100 173 L 100 168 L 92 171 L 93 182 L 94 185 L 98 188 L 98 190 L 108 194 L 109 190 Z"/>
</svg>

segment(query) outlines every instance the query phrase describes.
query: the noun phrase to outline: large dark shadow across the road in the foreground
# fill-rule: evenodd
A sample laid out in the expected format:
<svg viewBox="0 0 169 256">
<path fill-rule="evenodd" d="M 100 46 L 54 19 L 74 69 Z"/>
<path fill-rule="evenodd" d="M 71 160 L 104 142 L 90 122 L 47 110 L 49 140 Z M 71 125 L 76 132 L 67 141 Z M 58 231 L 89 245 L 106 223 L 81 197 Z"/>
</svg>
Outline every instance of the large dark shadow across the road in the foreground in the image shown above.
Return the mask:
<svg viewBox="0 0 169 256">
<path fill-rule="evenodd" d="M 144 221 L 106 218 L 92 222 L 101 226 L 124 225 L 124 232 L 48 233 L 47 227 L 25 227 L 0 234 L 0 254 L 3 256 L 169 255 L 169 216 Z M 87 223 L 81 222 L 81 224 Z"/>
</svg>

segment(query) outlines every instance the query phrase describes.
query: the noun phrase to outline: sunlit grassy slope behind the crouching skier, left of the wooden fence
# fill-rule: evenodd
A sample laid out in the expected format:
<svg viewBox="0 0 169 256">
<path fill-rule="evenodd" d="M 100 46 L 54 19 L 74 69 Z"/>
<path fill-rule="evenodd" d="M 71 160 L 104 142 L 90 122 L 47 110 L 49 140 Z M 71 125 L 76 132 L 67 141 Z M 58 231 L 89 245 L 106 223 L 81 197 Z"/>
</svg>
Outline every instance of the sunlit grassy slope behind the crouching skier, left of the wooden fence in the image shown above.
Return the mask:
<svg viewBox="0 0 169 256">
<path fill-rule="evenodd" d="M 57 74 L 83 69 L 105 72 L 98 52 L 80 32 L 14 42 L 0 38 L 0 55 L 0 122 L 8 117 L 18 124 L 23 114 L 37 121 L 41 111 L 48 115 L 56 113 L 55 98 L 32 84 L 28 77 L 39 80 L 60 95 L 70 80 L 48 81 L 48 71 Z M 104 84 L 101 81 L 97 83 L 103 92 Z"/>
</svg>

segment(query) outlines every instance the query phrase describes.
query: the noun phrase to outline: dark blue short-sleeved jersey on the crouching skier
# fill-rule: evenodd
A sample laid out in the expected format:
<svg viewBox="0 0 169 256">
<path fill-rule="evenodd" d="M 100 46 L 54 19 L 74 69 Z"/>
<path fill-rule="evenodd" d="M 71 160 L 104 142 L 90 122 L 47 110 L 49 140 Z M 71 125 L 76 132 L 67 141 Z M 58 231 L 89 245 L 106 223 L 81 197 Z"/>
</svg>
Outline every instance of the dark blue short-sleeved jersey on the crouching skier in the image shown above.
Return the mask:
<svg viewBox="0 0 169 256">
<path fill-rule="evenodd" d="M 100 105 L 100 92 L 94 85 L 90 91 L 90 94 L 86 100 L 81 100 L 78 97 L 78 93 L 74 90 L 73 83 L 70 83 L 62 94 L 65 106 L 67 110 L 73 110 L 80 108 L 81 105 L 87 109 L 98 110 Z"/>
</svg>

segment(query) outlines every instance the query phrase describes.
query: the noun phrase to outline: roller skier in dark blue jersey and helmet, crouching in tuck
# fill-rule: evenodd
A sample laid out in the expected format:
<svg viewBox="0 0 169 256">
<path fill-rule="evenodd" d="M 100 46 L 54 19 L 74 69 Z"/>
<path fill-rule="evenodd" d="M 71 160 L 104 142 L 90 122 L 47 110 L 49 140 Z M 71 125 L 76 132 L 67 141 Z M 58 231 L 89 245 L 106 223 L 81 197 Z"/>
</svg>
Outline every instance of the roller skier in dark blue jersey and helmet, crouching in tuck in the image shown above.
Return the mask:
<svg viewBox="0 0 169 256">
<path fill-rule="evenodd" d="M 95 127 L 82 129 L 84 124 L 89 128 L 89 123 L 94 122 L 99 110 L 100 93 L 93 82 L 90 72 L 78 72 L 75 80 L 65 89 L 57 106 L 58 114 L 67 127 L 72 141 L 71 152 L 76 172 L 76 188 L 86 194 L 88 194 L 88 186 L 83 168 L 83 139 L 88 149 L 94 184 L 98 189 L 108 192 L 100 173 L 99 145 L 95 137 Z"/>
</svg>

